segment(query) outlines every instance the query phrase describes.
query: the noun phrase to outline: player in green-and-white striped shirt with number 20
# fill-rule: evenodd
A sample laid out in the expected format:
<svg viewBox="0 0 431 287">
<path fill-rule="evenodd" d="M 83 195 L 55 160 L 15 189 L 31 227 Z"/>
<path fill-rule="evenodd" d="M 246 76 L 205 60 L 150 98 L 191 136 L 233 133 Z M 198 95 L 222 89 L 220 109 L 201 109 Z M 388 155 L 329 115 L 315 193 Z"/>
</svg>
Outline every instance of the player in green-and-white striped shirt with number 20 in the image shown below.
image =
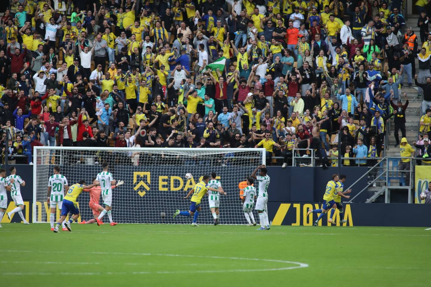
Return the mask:
<svg viewBox="0 0 431 287">
<path fill-rule="evenodd" d="M 48 192 L 47 192 L 47 203 L 50 205 L 50 224 L 51 231 L 54 231 L 54 222 L 55 222 L 55 212 L 56 207 L 62 210 L 63 205 L 63 197 L 65 191 L 67 192 L 69 189 L 69 185 L 67 183 L 67 179 L 64 175 L 60 175 L 60 167 L 58 165 L 54 165 L 54 174 L 48 179 Z M 61 213 L 60 213 L 61 214 Z M 62 229 L 63 231 L 67 231 L 66 222 L 62 221 Z"/>
</svg>

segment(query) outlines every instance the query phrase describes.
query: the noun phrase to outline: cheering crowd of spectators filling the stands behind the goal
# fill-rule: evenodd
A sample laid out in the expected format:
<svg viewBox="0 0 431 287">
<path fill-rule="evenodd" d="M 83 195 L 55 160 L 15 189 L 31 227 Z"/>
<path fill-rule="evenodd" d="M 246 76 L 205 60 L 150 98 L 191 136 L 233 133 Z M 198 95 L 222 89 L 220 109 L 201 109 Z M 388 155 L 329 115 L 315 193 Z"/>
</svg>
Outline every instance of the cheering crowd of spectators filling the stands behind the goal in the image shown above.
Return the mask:
<svg viewBox="0 0 431 287">
<path fill-rule="evenodd" d="M 265 147 L 283 166 L 294 148 L 324 167 L 338 152 L 369 165 L 390 117 L 397 143 L 399 129 L 405 137 L 400 87 L 404 74 L 412 84 L 418 39 L 403 33 L 402 2 L 12 0 L 1 18 L 3 155 Z M 427 90 L 425 64 L 414 78 Z"/>
</svg>

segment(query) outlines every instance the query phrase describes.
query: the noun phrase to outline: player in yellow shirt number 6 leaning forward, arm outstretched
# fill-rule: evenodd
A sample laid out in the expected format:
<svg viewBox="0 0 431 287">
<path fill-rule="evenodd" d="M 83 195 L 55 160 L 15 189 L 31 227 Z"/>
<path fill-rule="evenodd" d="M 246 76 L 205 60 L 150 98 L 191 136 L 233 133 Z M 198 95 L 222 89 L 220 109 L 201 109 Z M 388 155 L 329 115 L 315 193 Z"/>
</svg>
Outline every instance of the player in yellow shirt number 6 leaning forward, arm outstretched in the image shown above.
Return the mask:
<svg viewBox="0 0 431 287">
<path fill-rule="evenodd" d="M 90 189 L 91 187 L 96 186 L 97 184 L 90 184 L 90 185 L 84 185 L 85 181 L 81 180 L 77 184 L 72 184 L 71 187 L 69 187 L 69 190 L 66 193 L 66 196 L 63 199 L 62 203 L 62 209 L 61 209 L 61 217 L 60 220 L 56 223 L 54 232 L 58 233 L 58 229 L 60 227 L 60 224 L 66 219 L 66 216 L 69 214 L 69 212 L 72 213 L 72 217 L 69 218 L 68 221 L 66 221 L 65 226 L 67 230 L 72 231 L 70 228 L 70 225 L 73 221 L 76 220 L 76 218 L 79 217 L 79 209 L 76 204 L 76 199 L 81 194 L 81 192 L 84 189 Z"/>
</svg>

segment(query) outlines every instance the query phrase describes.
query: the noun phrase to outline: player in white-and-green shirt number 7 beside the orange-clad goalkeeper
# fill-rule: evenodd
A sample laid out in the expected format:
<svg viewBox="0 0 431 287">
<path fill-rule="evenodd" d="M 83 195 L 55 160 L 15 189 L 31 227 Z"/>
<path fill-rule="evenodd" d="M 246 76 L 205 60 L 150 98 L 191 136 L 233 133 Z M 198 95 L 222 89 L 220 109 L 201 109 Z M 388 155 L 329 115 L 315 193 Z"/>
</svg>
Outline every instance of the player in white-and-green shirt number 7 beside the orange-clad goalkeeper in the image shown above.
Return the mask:
<svg viewBox="0 0 431 287">
<path fill-rule="evenodd" d="M 103 172 L 100 172 L 96 176 L 95 183 L 96 184 L 100 183 L 100 191 L 102 193 L 102 200 L 103 200 L 103 204 L 105 205 L 105 209 L 103 209 L 103 211 L 100 212 L 99 217 L 96 218 L 97 225 L 102 224 L 101 219 L 106 213 L 108 214 L 109 222 L 114 223 L 114 221 L 112 221 L 112 214 L 111 214 L 111 209 L 112 209 L 111 186 L 114 185 L 116 181 L 112 178 L 112 173 L 108 172 L 107 162 L 103 162 L 102 168 L 103 168 Z M 111 225 L 116 225 L 116 224 L 111 224 Z"/>
</svg>

